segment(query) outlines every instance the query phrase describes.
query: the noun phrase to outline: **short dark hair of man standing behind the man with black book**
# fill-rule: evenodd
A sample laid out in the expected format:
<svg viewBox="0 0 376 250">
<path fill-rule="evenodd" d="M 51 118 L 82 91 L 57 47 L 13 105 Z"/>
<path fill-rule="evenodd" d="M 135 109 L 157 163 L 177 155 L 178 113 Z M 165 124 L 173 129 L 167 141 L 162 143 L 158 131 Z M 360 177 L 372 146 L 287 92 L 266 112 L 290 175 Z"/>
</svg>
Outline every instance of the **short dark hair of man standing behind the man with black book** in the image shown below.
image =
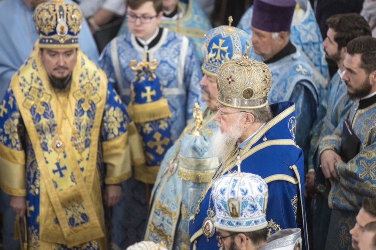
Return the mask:
<svg viewBox="0 0 376 250">
<path fill-rule="evenodd" d="M 335 32 L 334 41 L 338 50 L 359 36 L 372 36 L 368 22 L 358 13 L 335 14 L 326 19 L 326 24 Z"/>
</svg>

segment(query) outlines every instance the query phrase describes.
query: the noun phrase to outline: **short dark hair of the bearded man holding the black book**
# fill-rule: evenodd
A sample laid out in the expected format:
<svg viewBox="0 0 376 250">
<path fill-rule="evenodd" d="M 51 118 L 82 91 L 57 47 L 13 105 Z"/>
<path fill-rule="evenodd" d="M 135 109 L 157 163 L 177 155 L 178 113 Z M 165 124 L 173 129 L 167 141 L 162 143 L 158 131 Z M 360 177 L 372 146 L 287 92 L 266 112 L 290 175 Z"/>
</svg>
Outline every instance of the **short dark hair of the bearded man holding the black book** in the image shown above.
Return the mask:
<svg viewBox="0 0 376 250">
<path fill-rule="evenodd" d="M 360 36 L 352 39 L 346 46 L 347 54 L 360 54 L 359 67 L 367 74 L 376 70 L 376 38 Z"/>
</svg>

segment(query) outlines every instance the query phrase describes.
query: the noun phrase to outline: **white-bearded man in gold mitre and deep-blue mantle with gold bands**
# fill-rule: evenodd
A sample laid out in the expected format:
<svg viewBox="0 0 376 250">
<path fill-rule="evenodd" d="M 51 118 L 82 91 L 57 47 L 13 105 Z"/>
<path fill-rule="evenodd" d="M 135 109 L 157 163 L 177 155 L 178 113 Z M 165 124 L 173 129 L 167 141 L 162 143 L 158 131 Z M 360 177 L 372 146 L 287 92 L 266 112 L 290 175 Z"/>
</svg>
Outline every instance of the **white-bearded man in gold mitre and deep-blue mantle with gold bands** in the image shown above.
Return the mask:
<svg viewBox="0 0 376 250">
<path fill-rule="evenodd" d="M 218 112 L 214 119 L 220 129 L 212 136 L 211 149 L 221 163 L 190 218 L 191 249 L 219 249 L 215 227 L 210 226 L 216 220 L 212 185 L 218 177 L 237 171 L 238 159 L 242 160 L 242 172 L 258 174 L 268 183 L 268 236 L 300 227 L 308 243 L 304 161 L 295 142 L 295 106 L 290 101 L 268 105 L 271 76 L 265 63 L 248 59 L 246 53 L 226 61 L 218 71 Z"/>
</svg>

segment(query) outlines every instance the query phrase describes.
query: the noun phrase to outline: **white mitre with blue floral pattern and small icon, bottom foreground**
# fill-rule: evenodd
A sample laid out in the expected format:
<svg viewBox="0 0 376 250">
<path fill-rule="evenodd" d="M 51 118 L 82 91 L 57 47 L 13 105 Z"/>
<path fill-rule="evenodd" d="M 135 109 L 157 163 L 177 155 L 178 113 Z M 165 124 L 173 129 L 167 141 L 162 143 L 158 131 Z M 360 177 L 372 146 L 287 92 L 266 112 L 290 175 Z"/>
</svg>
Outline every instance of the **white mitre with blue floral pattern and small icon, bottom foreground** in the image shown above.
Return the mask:
<svg viewBox="0 0 376 250">
<path fill-rule="evenodd" d="M 218 178 L 212 189 L 216 211 L 214 225 L 234 232 L 265 228 L 268 185 L 261 176 L 236 172 Z"/>
</svg>

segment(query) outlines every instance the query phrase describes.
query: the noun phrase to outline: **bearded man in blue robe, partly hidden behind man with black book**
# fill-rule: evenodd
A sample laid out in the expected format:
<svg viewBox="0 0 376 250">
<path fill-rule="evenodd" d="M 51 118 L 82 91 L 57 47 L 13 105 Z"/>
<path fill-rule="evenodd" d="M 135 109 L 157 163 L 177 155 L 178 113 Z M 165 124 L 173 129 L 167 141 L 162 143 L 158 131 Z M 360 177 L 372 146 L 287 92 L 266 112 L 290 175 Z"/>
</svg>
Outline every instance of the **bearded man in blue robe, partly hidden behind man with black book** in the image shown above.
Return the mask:
<svg viewBox="0 0 376 250">
<path fill-rule="evenodd" d="M 347 87 L 342 79 L 345 67 L 343 59 L 346 55 L 346 45 L 353 38 L 361 35 L 371 35 L 367 21 L 357 13 L 336 14 L 326 20 L 329 26 L 327 36 L 322 43 L 325 47 L 326 57 L 337 63 L 338 71 L 331 78 L 325 98 L 319 105 L 318 117 L 312 128 L 311 146 L 308 155 L 308 173 L 306 174 L 305 190 L 307 195 L 313 196 L 316 185 L 318 193 L 315 195 L 313 208 L 313 246 L 314 249 L 325 247 L 327 228 L 330 220 L 328 206 L 328 189 L 325 177 L 322 174 L 318 145 L 321 139 L 332 134 L 354 103 L 347 95 Z"/>
</svg>

